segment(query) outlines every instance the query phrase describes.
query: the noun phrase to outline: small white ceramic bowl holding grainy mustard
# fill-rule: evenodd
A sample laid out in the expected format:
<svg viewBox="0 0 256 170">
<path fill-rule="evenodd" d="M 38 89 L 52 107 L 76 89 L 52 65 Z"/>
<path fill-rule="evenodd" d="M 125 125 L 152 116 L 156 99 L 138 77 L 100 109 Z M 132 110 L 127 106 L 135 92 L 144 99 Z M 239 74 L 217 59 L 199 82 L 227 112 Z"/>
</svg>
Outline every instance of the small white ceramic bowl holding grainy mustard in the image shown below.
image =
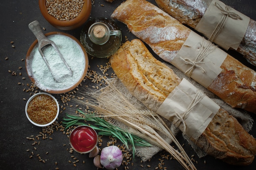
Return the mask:
<svg viewBox="0 0 256 170">
<path fill-rule="evenodd" d="M 56 106 L 57 106 L 57 113 L 56 113 L 56 116 L 54 117 L 54 119 L 53 119 L 51 122 L 49 122 L 49 123 L 47 123 L 47 124 L 37 124 L 37 123 L 35 123 L 34 121 L 32 121 L 32 120 L 29 118 L 29 115 L 28 115 L 28 113 L 27 113 L 27 108 L 28 108 L 29 102 L 31 102 L 31 100 L 34 99 L 34 98 L 35 98 L 36 96 L 38 96 L 38 95 L 47 95 L 47 96 L 50 96 L 50 97 L 52 97 L 52 99 L 54 99 L 54 101 L 56 102 Z M 58 114 L 59 114 L 59 111 L 60 111 L 60 108 L 59 108 L 59 105 L 58 105 L 58 102 L 57 102 L 56 98 L 53 97 L 52 95 L 50 95 L 49 93 L 36 93 L 36 94 L 34 94 L 33 96 L 31 96 L 31 97 L 28 99 L 28 101 L 27 101 L 27 103 L 26 103 L 26 106 L 25 106 L 25 113 L 26 113 L 27 119 L 31 122 L 31 124 L 34 124 L 34 125 L 39 126 L 39 127 L 45 127 L 45 126 L 51 125 L 51 124 L 57 119 Z"/>
</svg>

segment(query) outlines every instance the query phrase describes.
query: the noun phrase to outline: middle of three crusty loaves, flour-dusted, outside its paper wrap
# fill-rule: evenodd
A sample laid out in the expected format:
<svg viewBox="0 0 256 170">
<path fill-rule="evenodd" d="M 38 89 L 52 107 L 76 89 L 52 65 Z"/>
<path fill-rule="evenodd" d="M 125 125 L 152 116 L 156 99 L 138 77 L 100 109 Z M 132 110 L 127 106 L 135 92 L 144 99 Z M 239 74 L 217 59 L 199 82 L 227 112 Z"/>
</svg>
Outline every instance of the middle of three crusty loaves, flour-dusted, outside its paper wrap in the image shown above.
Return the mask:
<svg viewBox="0 0 256 170">
<path fill-rule="evenodd" d="M 146 0 L 126 0 L 111 17 L 125 23 L 166 62 L 171 62 L 191 30 Z M 227 55 L 208 90 L 233 108 L 256 113 L 256 72 Z"/>
</svg>

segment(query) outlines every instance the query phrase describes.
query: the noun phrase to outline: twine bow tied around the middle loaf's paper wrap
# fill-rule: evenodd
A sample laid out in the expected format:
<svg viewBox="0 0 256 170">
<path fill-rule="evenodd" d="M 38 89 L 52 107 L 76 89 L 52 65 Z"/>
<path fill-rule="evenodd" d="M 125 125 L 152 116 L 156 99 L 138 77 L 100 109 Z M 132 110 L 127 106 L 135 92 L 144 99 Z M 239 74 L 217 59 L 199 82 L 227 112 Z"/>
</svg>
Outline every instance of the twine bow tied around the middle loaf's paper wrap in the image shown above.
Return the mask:
<svg viewBox="0 0 256 170">
<path fill-rule="evenodd" d="M 195 67 L 198 67 L 202 73 L 205 73 L 205 70 L 202 66 L 199 64 L 204 64 L 202 60 L 209 55 L 214 49 L 216 49 L 217 46 L 213 45 L 210 41 L 207 41 L 203 38 L 202 46 L 200 48 L 200 51 L 198 55 L 195 57 L 195 61 L 192 61 L 189 58 L 182 58 L 180 56 L 180 59 L 185 63 L 191 65 L 191 67 L 185 72 L 186 76 L 191 77 Z"/>
</svg>

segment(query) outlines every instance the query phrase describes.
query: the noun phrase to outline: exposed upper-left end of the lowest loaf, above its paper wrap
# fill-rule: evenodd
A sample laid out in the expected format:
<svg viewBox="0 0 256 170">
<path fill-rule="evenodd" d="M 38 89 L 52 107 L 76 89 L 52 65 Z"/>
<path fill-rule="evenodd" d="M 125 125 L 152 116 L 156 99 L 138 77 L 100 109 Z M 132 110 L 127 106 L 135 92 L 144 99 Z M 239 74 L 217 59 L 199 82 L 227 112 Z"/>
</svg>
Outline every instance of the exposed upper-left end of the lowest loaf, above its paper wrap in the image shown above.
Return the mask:
<svg viewBox="0 0 256 170">
<path fill-rule="evenodd" d="M 131 53 L 132 47 L 130 47 L 130 43 L 128 42 L 110 58 L 110 63 L 112 68 L 115 68 L 114 71 L 119 79 L 126 80 L 122 81 L 122 83 L 128 91 L 132 95 L 136 95 L 139 101 L 144 103 L 145 106 L 156 111 L 169 95 L 170 91 L 180 84 L 181 79 L 170 68 L 164 66 L 162 62 L 156 60 L 154 57 L 152 58 L 151 53 L 146 50 L 144 44 L 142 45 L 138 41 L 134 40 L 133 42 L 143 48 L 140 50 L 134 48 L 135 51 L 133 53 L 136 53 L 137 56 L 140 56 L 140 59 L 144 60 L 144 65 L 140 64 L 142 61 L 139 60 L 139 57 L 134 58 L 134 55 Z M 125 50 L 126 48 L 129 48 L 129 50 Z M 112 62 L 113 60 L 114 62 Z M 146 64 L 151 62 L 154 64 Z M 146 71 L 146 67 L 153 69 L 149 72 Z M 146 73 L 143 73 L 143 71 L 146 71 Z M 159 85 L 158 79 L 163 79 L 162 86 Z"/>
</svg>

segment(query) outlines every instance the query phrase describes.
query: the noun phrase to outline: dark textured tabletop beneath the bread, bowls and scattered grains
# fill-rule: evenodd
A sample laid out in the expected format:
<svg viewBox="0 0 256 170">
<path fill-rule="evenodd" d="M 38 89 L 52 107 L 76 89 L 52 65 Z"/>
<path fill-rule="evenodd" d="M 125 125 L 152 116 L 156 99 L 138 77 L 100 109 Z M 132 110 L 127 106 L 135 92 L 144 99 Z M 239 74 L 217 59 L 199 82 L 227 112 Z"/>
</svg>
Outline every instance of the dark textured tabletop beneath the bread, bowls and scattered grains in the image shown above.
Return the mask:
<svg viewBox="0 0 256 170">
<path fill-rule="evenodd" d="M 149 1 L 155 4 L 154 0 Z M 104 0 L 96 0 L 92 6 L 91 17 L 109 17 L 121 2 L 123 2 L 123 0 L 115 0 L 112 3 L 105 2 Z M 256 3 L 254 0 L 223 0 L 223 2 L 256 20 Z M 104 6 L 101 4 L 104 4 Z M 47 132 L 43 132 L 42 128 L 33 126 L 25 116 L 26 100 L 29 99 L 32 92 L 29 91 L 31 82 L 26 73 L 25 60 L 22 61 L 22 59 L 25 59 L 29 46 L 36 39 L 33 33 L 29 30 L 28 24 L 34 20 L 38 20 L 41 27 L 45 27 L 45 33 L 60 30 L 54 28 L 43 18 L 38 8 L 37 0 L 1 0 L 0 13 L 0 169 L 55 170 L 56 168 L 59 168 L 60 170 L 96 170 L 97 168 L 92 162 L 93 159 L 88 158 L 88 155 L 69 152 L 71 148 L 69 139 L 67 135 L 64 135 L 63 132 L 60 131 L 60 129 L 57 130 L 55 128 L 53 129 L 52 134 L 47 134 Z M 134 35 L 128 32 L 128 29 L 124 24 L 120 22 L 117 22 L 117 24 L 121 27 L 123 36 L 127 36 L 129 40 L 135 38 Z M 82 27 L 72 31 L 63 32 L 70 33 L 79 39 L 81 29 Z M 11 44 L 12 41 L 13 44 Z M 124 37 L 123 41 L 125 41 Z M 12 45 L 15 46 L 15 48 L 13 48 Z M 234 52 L 230 53 L 255 70 L 255 67 L 245 62 L 243 57 Z M 108 60 L 92 59 L 89 56 L 89 62 L 90 70 L 99 71 L 97 65 L 105 66 Z M 11 71 L 11 73 L 9 73 L 9 71 Z M 21 84 L 18 84 L 19 82 Z M 82 85 L 84 86 L 89 83 L 90 81 L 87 79 L 82 82 Z M 60 104 L 63 105 L 61 102 L 61 95 L 54 96 L 58 99 Z M 68 108 L 69 106 L 67 106 L 67 104 L 70 106 L 74 103 L 72 103 L 71 100 L 70 102 L 65 103 L 64 107 Z M 68 109 L 63 110 L 62 108 L 61 110 L 62 113 L 59 115 L 58 122 L 61 121 Z M 254 114 L 251 114 L 251 116 L 256 120 Z M 43 137 L 39 137 L 38 140 L 36 136 L 40 135 L 40 133 L 46 133 L 47 138 L 43 139 Z M 249 133 L 256 136 L 255 125 Z M 32 135 L 34 135 L 34 137 Z M 27 139 L 30 137 L 31 139 Z M 191 146 L 184 141 L 181 135 L 178 135 L 177 138 L 181 144 L 184 144 L 184 149 L 189 156 L 195 155 Z M 34 141 L 36 141 L 36 143 Z M 100 148 L 106 146 L 108 141 L 110 141 L 108 137 L 103 137 L 103 144 Z M 164 151 L 159 152 L 159 154 L 154 155 L 150 161 L 143 163 L 141 163 L 138 157 L 135 157 L 127 167 L 129 170 L 154 170 L 160 163 L 159 159 L 162 159 L 164 160 L 164 165 L 162 165 L 162 167 L 166 167 L 168 170 L 184 169 L 177 163 L 177 161 L 162 158 L 164 154 L 168 155 Z M 40 157 L 41 161 L 39 161 Z M 79 161 L 76 161 L 74 158 Z M 230 166 L 210 156 L 200 159 L 195 155 L 193 159 L 196 161 L 195 166 L 198 170 L 255 170 L 256 167 L 256 161 L 250 166 L 239 167 Z M 71 161 L 71 163 L 69 163 L 69 161 Z M 74 161 L 76 161 L 76 166 L 73 165 Z M 57 165 L 55 162 L 57 162 Z M 150 167 L 148 165 L 150 165 Z M 127 169 L 127 167 L 125 168 L 125 166 L 121 166 L 118 169 Z"/>
</svg>

